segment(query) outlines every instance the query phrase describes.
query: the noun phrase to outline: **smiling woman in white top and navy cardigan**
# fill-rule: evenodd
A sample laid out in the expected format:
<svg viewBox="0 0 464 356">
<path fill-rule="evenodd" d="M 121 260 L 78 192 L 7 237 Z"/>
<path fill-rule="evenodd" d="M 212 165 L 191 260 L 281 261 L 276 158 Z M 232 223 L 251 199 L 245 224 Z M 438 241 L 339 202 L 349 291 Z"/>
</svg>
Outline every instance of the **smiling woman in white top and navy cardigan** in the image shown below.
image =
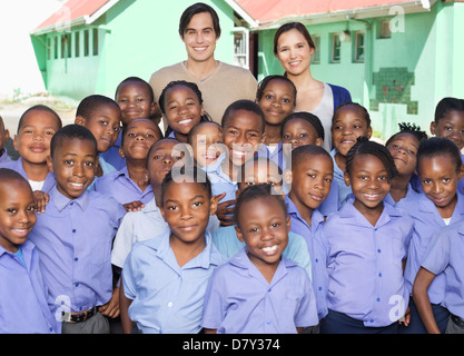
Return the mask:
<svg viewBox="0 0 464 356">
<path fill-rule="evenodd" d="M 285 23 L 274 36 L 274 55 L 298 92 L 295 111 L 308 111 L 320 119 L 325 130 L 324 148 L 329 151 L 332 117 L 335 109 L 344 102 L 352 101 L 352 97 L 343 87 L 313 78 L 310 56 L 315 49 L 316 46 L 308 30 L 300 22 Z"/>
</svg>

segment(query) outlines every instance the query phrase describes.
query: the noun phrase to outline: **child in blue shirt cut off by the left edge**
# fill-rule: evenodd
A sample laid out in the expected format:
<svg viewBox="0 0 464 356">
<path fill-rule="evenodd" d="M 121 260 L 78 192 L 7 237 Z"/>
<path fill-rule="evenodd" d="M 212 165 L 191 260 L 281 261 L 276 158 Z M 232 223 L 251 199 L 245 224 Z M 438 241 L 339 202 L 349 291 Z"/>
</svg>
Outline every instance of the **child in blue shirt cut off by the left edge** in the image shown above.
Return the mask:
<svg viewBox="0 0 464 356">
<path fill-rule="evenodd" d="M 0 168 L 0 334 L 55 334 L 39 256 L 28 234 L 36 224 L 29 182 Z"/>
</svg>

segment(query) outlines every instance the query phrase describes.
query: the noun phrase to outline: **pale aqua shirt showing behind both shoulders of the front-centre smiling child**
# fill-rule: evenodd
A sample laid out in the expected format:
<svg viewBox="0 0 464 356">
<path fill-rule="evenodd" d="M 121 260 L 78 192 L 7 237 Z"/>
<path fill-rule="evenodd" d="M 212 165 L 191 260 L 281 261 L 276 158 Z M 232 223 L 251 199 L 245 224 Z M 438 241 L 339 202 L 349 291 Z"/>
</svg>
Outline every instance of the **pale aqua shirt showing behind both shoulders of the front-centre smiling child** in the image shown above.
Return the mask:
<svg viewBox="0 0 464 356">
<path fill-rule="evenodd" d="M 234 226 L 224 226 L 218 228 L 213 234 L 213 244 L 216 248 L 227 258 L 233 257 L 239 253 L 246 244 L 238 239 L 237 233 Z M 287 259 L 292 259 L 298 264 L 298 266 L 306 269 L 309 279 L 312 278 L 312 266 L 309 251 L 306 248 L 305 239 L 294 233 L 288 233 L 288 245 L 282 254 Z"/>
</svg>

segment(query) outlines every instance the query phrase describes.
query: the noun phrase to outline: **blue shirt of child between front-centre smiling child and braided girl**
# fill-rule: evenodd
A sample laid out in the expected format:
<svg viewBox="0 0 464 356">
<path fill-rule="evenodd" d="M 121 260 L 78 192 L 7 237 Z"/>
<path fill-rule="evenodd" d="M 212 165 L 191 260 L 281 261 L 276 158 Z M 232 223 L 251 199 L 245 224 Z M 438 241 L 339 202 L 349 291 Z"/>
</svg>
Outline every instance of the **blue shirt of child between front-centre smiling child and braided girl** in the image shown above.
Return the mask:
<svg viewBox="0 0 464 356">
<path fill-rule="evenodd" d="M 312 281 L 316 297 L 317 315 L 323 319 L 327 310 L 328 275 L 326 268 L 328 245 L 324 233 L 324 216 L 317 209 L 312 215 L 312 226 L 303 219 L 292 199 L 286 196 L 285 204 L 292 219 L 290 231 L 302 236 L 306 241 L 312 259 Z"/>
</svg>

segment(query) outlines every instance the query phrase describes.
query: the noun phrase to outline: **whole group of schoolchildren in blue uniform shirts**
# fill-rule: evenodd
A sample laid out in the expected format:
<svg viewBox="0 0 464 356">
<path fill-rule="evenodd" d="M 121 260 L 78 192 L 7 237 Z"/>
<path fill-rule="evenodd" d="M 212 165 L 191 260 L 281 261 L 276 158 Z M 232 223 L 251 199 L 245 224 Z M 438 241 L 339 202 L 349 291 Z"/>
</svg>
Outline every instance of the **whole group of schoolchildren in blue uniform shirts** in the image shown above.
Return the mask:
<svg viewBox="0 0 464 356">
<path fill-rule="evenodd" d="M 210 118 L 172 81 L 165 135 L 137 77 L 72 125 L 28 109 L 0 157 L 0 333 L 464 333 L 464 101 L 385 145 L 347 102 L 327 151 L 296 100 L 269 76 Z"/>
</svg>

